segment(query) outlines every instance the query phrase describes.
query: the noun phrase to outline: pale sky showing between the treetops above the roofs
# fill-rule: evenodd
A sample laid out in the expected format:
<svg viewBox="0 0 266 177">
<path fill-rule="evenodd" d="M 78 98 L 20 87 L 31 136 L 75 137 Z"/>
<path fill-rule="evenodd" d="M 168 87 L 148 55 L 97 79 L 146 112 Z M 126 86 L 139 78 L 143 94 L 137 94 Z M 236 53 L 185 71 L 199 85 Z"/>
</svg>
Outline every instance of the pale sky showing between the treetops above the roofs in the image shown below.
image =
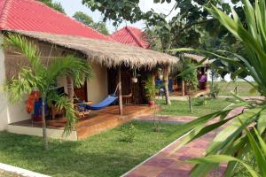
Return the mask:
<svg viewBox="0 0 266 177">
<path fill-rule="evenodd" d="M 66 14 L 70 17 L 74 15 L 74 12 L 81 11 L 81 12 L 85 12 L 86 14 L 90 15 L 90 17 L 94 19 L 95 21 L 103 20 L 103 16 L 101 15 L 100 12 L 97 12 L 97 11 L 91 12 L 88 7 L 86 7 L 85 5 L 82 5 L 82 0 L 54 0 L 54 1 L 62 4 L 66 11 Z M 171 8 L 174 6 L 174 2 L 172 2 L 171 4 L 167 4 L 167 3 L 153 4 L 153 0 L 140 0 L 139 5 L 140 5 L 140 8 L 145 12 L 150 11 L 153 8 L 155 12 L 162 12 L 162 13 L 168 14 L 168 12 L 170 12 Z M 174 15 L 175 15 L 175 12 L 172 12 L 168 16 L 168 18 L 171 18 Z M 124 22 L 120 25 L 120 27 L 118 27 L 118 29 L 125 27 L 125 26 L 138 27 L 142 29 L 145 27 L 145 24 L 143 21 L 139 21 L 135 24 Z M 112 21 L 107 21 L 106 27 L 108 28 L 111 34 L 115 31 L 115 27 L 113 27 Z"/>
</svg>

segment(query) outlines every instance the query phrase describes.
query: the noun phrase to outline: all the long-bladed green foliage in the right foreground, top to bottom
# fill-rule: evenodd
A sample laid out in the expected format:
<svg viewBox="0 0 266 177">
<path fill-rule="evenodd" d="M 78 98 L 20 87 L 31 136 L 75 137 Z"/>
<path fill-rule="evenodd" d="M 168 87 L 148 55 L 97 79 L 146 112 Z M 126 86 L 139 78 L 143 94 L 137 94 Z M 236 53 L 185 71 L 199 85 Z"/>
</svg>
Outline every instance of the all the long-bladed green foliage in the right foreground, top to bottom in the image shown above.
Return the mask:
<svg viewBox="0 0 266 177">
<path fill-rule="evenodd" d="M 241 73 L 251 75 L 254 78 L 256 85 L 250 82 L 250 84 L 260 92 L 262 96 L 266 96 L 266 2 L 255 1 L 251 4 L 248 0 L 242 0 L 243 11 L 245 12 L 246 23 L 242 24 L 239 20 L 239 15 L 235 10 L 231 9 L 231 16 L 226 15 L 221 10 L 212 5 L 211 8 L 207 8 L 207 11 L 211 13 L 215 19 L 217 19 L 223 27 L 226 27 L 231 35 L 234 35 L 245 46 L 247 52 L 246 58 L 232 53 L 233 58 L 227 58 L 226 56 L 215 54 L 209 51 L 205 51 L 207 54 L 214 55 L 223 62 L 230 63 L 237 68 L 233 75 L 237 76 Z M 188 50 L 178 49 L 176 51 Z M 223 51 L 227 53 L 226 51 Z M 237 115 L 230 115 L 229 113 L 236 107 L 239 110 L 245 110 L 237 113 Z M 213 123 L 211 120 L 219 117 L 218 122 Z M 207 147 L 205 151 L 206 159 L 212 158 L 215 163 L 203 163 L 202 161 L 195 165 L 192 169 L 191 175 L 193 176 L 207 176 L 207 174 L 214 169 L 219 162 L 232 161 L 227 165 L 224 176 L 231 176 L 234 173 L 235 167 L 241 163 L 239 160 L 243 160 L 243 155 L 246 152 L 250 152 L 256 145 L 250 140 L 250 135 L 244 133 L 244 127 L 248 127 L 246 132 L 254 135 L 254 128 L 257 128 L 258 134 L 265 137 L 266 127 L 266 102 L 252 100 L 243 100 L 240 96 L 234 95 L 233 104 L 227 106 L 219 112 L 202 116 L 199 119 L 194 119 L 191 122 L 185 124 L 182 128 L 176 131 L 176 136 L 186 135 L 184 142 L 181 142 L 179 147 L 181 148 L 187 142 L 191 142 L 202 135 L 206 135 L 208 132 L 215 131 L 217 128 L 222 129 L 213 141 Z M 242 122 L 240 124 L 239 120 Z M 228 123 L 228 124 L 227 124 Z M 264 145 L 263 145 L 264 146 Z M 258 151 L 258 150 L 256 150 Z M 255 152 L 254 156 L 258 160 L 259 174 L 266 176 L 265 166 L 265 153 L 261 153 L 261 156 L 257 157 L 258 153 Z M 217 155 L 221 155 L 219 159 L 214 159 Z M 236 157 L 234 157 L 237 155 Z M 238 160 L 236 161 L 236 159 Z M 242 164 L 243 165 L 243 164 Z M 249 170 L 249 172 L 251 172 Z"/>
</svg>

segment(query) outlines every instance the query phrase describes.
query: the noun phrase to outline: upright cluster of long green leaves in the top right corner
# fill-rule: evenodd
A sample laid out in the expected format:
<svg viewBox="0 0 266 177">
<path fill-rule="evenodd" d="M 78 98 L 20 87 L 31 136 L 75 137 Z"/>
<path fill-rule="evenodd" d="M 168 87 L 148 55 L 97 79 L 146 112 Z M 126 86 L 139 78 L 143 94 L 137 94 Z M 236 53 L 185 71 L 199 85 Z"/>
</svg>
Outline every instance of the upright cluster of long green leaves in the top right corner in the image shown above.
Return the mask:
<svg viewBox="0 0 266 177">
<path fill-rule="evenodd" d="M 255 1 L 254 7 L 248 0 L 243 0 L 243 8 L 246 14 L 246 24 L 248 28 L 244 28 L 236 12 L 233 12 L 233 19 L 223 13 L 221 10 L 212 6 L 207 8 L 215 19 L 231 31 L 246 47 L 248 58 L 239 58 L 245 62 L 246 67 L 254 77 L 254 80 L 261 87 L 262 94 L 266 95 L 266 17 L 265 1 Z M 252 69 L 253 68 L 253 69 Z"/>
</svg>

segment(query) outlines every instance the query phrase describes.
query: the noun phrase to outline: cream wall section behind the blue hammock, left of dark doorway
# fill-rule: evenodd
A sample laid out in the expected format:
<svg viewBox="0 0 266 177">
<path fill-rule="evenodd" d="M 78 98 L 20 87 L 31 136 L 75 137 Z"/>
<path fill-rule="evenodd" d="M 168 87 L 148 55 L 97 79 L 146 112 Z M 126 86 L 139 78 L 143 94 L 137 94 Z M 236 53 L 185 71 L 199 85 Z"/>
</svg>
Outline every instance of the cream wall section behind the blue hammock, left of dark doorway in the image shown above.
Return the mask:
<svg viewBox="0 0 266 177">
<path fill-rule="evenodd" d="M 92 64 L 94 77 L 87 81 L 88 100 L 98 104 L 108 95 L 107 69 L 98 64 Z"/>
</svg>

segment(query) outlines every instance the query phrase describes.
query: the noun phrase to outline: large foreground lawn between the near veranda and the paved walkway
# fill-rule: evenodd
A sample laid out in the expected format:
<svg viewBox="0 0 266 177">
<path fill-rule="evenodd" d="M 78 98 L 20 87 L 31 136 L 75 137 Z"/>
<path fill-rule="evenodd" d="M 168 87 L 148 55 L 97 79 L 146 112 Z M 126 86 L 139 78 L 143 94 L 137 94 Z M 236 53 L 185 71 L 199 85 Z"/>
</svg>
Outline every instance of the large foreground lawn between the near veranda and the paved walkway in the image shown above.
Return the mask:
<svg viewBox="0 0 266 177">
<path fill-rule="evenodd" d="M 0 132 L 0 162 L 52 176 L 120 176 L 173 142 L 168 135 L 179 127 L 163 124 L 157 133 L 152 123 L 133 125 L 134 142 L 121 141 L 126 124 L 79 142 L 50 140 L 47 151 L 41 137 Z"/>
</svg>

